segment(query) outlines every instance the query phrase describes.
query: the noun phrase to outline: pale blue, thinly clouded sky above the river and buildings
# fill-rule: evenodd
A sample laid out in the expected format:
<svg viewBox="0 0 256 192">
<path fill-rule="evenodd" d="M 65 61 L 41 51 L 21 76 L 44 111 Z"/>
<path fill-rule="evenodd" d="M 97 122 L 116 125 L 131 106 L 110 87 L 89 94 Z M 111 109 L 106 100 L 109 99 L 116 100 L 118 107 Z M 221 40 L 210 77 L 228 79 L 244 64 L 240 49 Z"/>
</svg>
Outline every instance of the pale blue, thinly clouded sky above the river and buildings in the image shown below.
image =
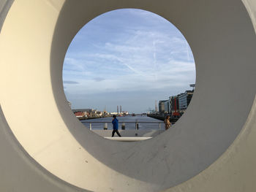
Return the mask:
<svg viewBox="0 0 256 192">
<path fill-rule="evenodd" d="M 64 59 L 64 92 L 75 108 L 116 112 L 154 109 L 155 100 L 190 90 L 195 61 L 180 31 L 140 9 L 118 9 L 91 20 Z"/>
</svg>

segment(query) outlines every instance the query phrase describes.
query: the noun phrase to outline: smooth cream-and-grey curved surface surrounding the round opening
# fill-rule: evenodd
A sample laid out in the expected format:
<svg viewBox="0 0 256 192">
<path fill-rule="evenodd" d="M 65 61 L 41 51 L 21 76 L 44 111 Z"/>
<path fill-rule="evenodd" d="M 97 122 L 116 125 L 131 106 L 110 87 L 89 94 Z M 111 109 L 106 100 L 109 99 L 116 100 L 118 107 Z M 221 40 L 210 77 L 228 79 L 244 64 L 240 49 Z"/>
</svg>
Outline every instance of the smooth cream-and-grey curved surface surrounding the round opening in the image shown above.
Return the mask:
<svg viewBox="0 0 256 192">
<path fill-rule="evenodd" d="M 254 0 L 11 4 L 0 1 L 1 191 L 255 191 Z M 181 30 L 194 53 L 197 88 L 172 129 L 122 143 L 72 115 L 61 73 L 84 24 L 130 7 Z"/>
</svg>

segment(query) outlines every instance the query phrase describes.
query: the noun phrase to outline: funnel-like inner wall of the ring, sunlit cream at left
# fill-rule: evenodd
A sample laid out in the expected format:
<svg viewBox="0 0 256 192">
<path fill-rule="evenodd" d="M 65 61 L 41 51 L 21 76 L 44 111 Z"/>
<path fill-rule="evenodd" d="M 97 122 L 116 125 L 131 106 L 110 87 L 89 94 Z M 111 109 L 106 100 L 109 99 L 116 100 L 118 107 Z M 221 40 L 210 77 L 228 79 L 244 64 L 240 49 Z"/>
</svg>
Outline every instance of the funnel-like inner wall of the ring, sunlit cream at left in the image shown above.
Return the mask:
<svg viewBox="0 0 256 192">
<path fill-rule="evenodd" d="M 154 184 L 157 187 L 152 191 L 159 191 L 183 183 L 202 172 L 230 146 L 244 125 L 255 99 L 255 70 L 252 70 L 255 69 L 252 59 L 255 55 L 255 32 L 252 33 L 252 23 L 247 12 L 230 9 L 230 4 L 222 4 L 222 1 L 212 1 L 212 6 L 204 6 L 201 1 L 192 2 L 189 6 L 180 2 L 165 1 L 159 4 L 156 1 L 151 6 L 148 6 L 148 1 L 141 1 L 141 4 L 122 1 L 121 4 L 124 7 L 147 7 L 174 20 L 184 34 L 186 31 L 186 37 L 197 53 L 198 72 L 197 96 L 189 107 L 190 112 L 180 121 L 178 128 L 160 137 L 148 142 L 116 145 L 86 129 L 78 130 L 76 126 L 82 125 L 74 117 L 68 117 L 70 111 L 61 106 L 66 100 L 62 90 L 59 91 L 59 69 L 67 48 L 64 45 L 73 37 L 73 31 L 80 28 L 80 23 L 84 23 L 84 20 L 77 18 L 89 19 L 91 12 L 97 15 L 119 8 L 119 1 L 113 1 L 113 4 L 117 4 L 115 6 L 109 1 L 95 1 L 97 6 L 94 3 L 91 6 L 88 1 L 65 1 L 64 6 L 59 7 L 59 15 L 56 9 L 42 6 L 45 1 L 35 4 L 15 1 L 16 6 L 12 7 L 12 13 L 8 16 L 12 15 L 13 18 L 7 20 L 1 34 L 1 37 L 5 37 L 1 39 L 4 39 L 1 43 L 1 53 L 4 53 L 1 61 L 7 63 L 2 70 L 2 82 L 9 80 L 10 74 L 13 77 L 8 81 L 8 86 L 1 86 L 1 104 L 4 116 L 20 144 L 39 164 L 69 183 L 91 191 L 105 191 L 110 187 L 115 191 L 132 191 L 130 186 L 134 186 L 135 190 L 140 188 L 140 191 L 148 191 Z M 240 3 L 234 1 L 238 6 Z M 38 9 L 34 8 L 35 5 Z M 23 10 L 29 6 L 31 11 L 26 9 L 24 14 Z M 230 10 L 229 14 L 227 9 L 213 11 L 225 6 Z M 18 7 L 23 9 L 18 11 Z M 182 17 L 180 12 L 184 12 Z M 54 18 L 56 15 L 58 19 Z M 38 20 L 45 21 L 45 18 L 50 22 L 38 23 Z M 57 22 L 52 22 L 55 21 L 53 18 Z M 19 30 L 13 30 L 14 20 L 19 20 L 15 27 Z M 49 26 L 50 23 L 52 26 Z M 21 25 L 33 26 L 33 30 Z M 225 34 L 232 35 L 227 38 Z M 39 39 L 42 39 L 42 44 L 38 42 Z M 27 53 L 30 53 L 29 57 Z M 53 90 L 50 89 L 50 81 Z M 237 102 L 241 99 L 243 102 Z M 16 108 L 20 111 L 14 117 L 13 109 Z M 39 109 L 40 113 L 31 118 L 33 109 Z M 66 119 L 62 117 L 69 119 L 63 122 Z M 70 137 L 71 134 L 75 139 Z M 129 187 L 127 180 L 128 184 L 132 184 Z M 141 185 L 138 180 L 148 185 Z M 102 188 L 98 190 L 98 186 Z"/>
</svg>

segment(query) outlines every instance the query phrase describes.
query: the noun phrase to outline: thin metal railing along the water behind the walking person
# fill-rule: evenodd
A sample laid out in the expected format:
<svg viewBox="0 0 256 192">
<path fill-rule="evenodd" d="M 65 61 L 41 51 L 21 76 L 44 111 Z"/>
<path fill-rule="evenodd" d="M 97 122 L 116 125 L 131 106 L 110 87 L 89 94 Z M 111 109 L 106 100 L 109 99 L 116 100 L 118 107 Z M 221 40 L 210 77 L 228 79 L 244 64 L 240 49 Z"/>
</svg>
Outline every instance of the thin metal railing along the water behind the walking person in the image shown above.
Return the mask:
<svg viewBox="0 0 256 192">
<path fill-rule="evenodd" d="M 113 125 L 111 121 L 81 121 L 84 126 L 92 129 L 112 129 Z M 94 126 L 93 126 L 94 124 Z M 164 129 L 165 123 L 158 121 L 119 121 L 118 128 L 121 129 Z"/>
</svg>

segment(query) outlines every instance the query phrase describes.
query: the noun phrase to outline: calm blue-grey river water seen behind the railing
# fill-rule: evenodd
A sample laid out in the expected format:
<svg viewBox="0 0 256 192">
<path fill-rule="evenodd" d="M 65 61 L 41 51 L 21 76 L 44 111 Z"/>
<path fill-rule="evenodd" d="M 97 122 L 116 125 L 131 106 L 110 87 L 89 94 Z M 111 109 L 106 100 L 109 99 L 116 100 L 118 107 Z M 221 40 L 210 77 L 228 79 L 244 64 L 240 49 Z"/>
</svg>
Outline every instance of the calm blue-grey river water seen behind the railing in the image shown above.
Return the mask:
<svg viewBox="0 0 256 192">
<path fill-rule="evenodd" d="M 162 120 L 157 120 L 154 118 L 149 118 L 147 116 L 131 116 L 127 115 L 125 117 L 117 117 L 118 119 L 118 126 L 121 129 L 122 122 L 125 122 L 125 129 L 135 129 L 135 122 L 138 122 L 139 129 L 165 129 L 165 123 L 163 123 Z M 87 128 L 90 127 L 91 122 L 91 128 L 92 129 L 103 129 L 105 126 L 105 122 L 108 122 L 108 129 L 112 129 L 112 118 L 98 118 L 98 119 L 91 119 L 91 120 L 81 120 L 81 123 L 83 123 L 84 126 Z"/>
</svg>

